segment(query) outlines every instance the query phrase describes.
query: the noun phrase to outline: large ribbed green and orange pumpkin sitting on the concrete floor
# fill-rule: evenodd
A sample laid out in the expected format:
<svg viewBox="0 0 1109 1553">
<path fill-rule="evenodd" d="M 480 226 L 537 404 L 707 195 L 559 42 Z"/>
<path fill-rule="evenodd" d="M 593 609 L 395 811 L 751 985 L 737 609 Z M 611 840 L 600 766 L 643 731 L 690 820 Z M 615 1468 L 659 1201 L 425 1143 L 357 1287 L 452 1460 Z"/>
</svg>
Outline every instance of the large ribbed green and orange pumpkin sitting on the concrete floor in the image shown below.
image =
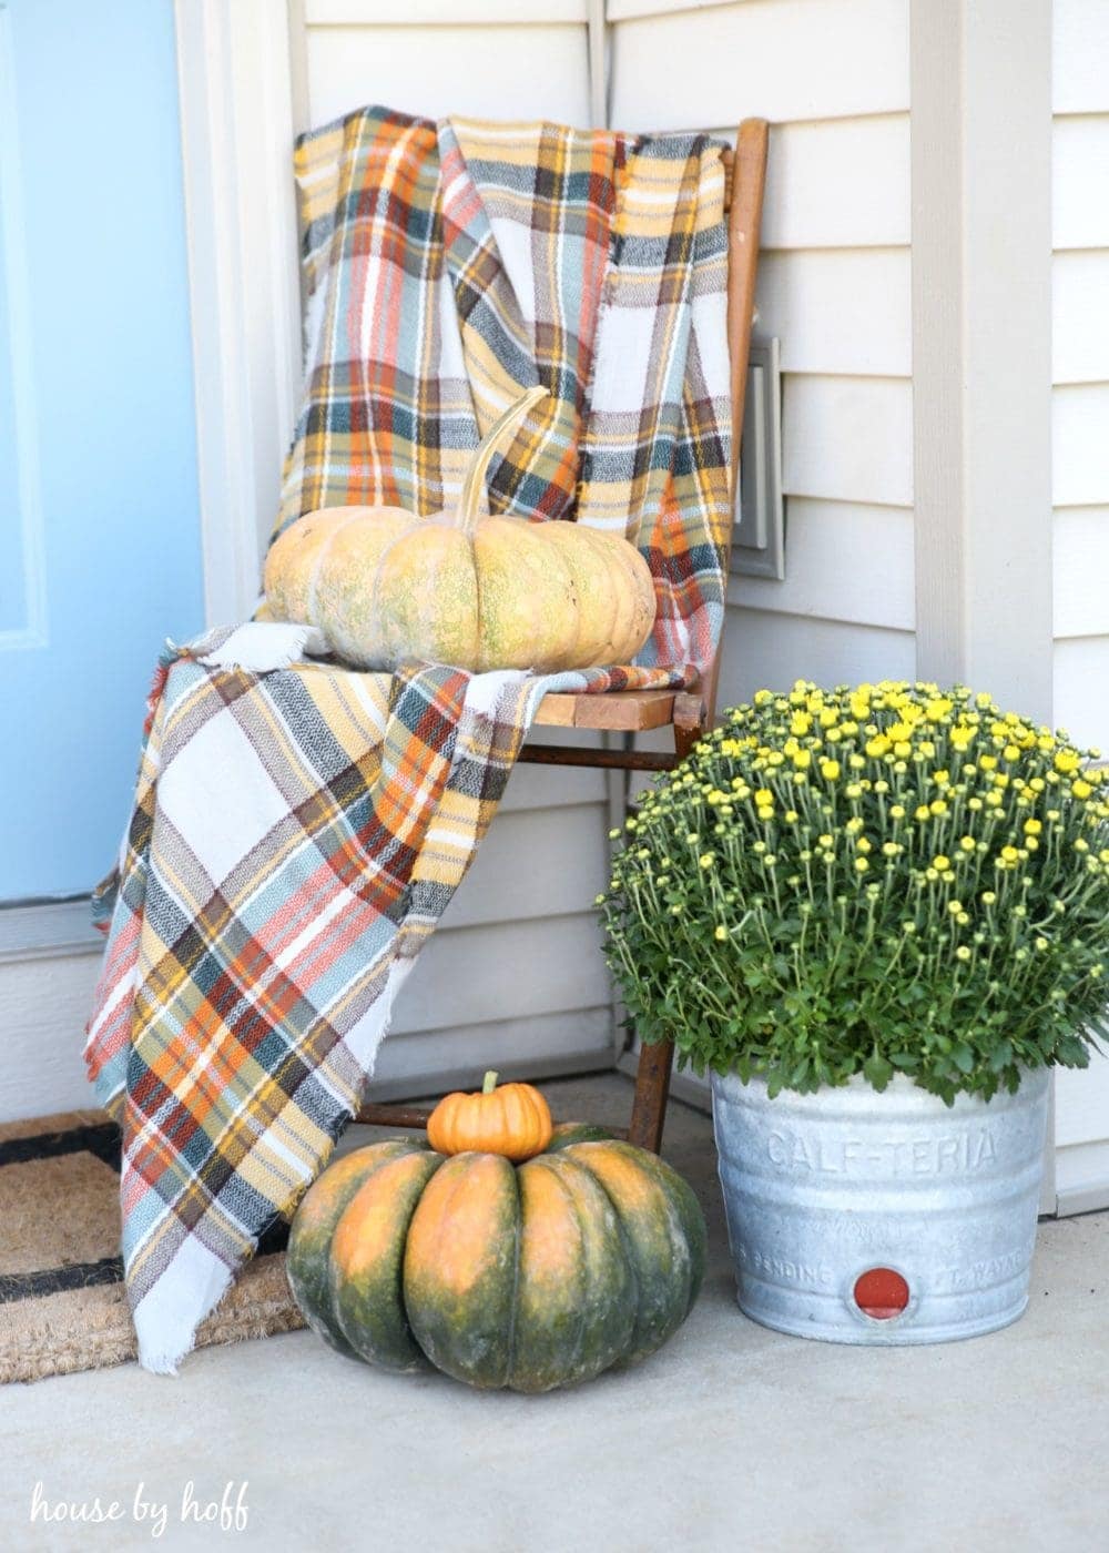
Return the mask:
<svg viewBox="0 0 1109 1553">
<path fill-rule="evenodd" d="M 562 1126 L 520 1166 L 408 1138 L 348 1154 L 301 1202 L 287 1269 L 309 1326 L 351 1357 L 548 1391 L 662 1346 L 704 1256 L 676 1171 Z"/>
</svg>

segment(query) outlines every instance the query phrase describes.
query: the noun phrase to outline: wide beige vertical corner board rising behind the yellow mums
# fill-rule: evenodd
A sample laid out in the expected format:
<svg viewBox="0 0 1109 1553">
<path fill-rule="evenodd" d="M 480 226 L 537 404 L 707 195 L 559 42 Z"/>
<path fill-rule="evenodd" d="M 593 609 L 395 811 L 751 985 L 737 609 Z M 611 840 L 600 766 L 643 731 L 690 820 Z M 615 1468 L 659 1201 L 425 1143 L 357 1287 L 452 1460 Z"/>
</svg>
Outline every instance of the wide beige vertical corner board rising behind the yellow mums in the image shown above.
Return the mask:
<svg viewBox="0 0 1109 1553">
<path fill-rule="evenodd" d="M 910 40 L 916 672 L 1050 722 L 1052 0 L 912 0 Z"/>
</svg>

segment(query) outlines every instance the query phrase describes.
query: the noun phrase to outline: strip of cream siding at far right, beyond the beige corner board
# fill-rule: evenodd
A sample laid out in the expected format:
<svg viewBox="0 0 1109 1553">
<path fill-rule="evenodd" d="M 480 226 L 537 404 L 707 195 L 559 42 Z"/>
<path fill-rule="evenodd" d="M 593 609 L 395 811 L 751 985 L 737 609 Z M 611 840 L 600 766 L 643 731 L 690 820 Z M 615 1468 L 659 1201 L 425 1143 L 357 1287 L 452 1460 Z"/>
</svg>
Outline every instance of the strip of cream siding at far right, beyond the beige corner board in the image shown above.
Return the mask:
<svg viewBox="0 0 1109 1553">
<path fill-rule="evenodd" d="M 1055 719 L 1109 750 L 1109 6 L 1053 20 Z M 1109 1202 L 1109 1061 L 1059 1073 L 1062 1210 Z"/>
</svg>

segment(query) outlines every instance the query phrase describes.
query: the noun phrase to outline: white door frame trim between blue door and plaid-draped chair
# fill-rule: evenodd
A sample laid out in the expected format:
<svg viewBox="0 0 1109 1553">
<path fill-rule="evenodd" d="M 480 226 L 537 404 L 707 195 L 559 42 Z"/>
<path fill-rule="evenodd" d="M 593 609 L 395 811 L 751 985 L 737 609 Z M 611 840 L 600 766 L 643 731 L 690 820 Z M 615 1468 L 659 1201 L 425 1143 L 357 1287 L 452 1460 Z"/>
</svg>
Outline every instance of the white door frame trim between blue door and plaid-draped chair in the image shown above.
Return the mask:
<svg viewBox="0 0 1109 1553">
<path fill-rule="evenodd" d="M 300 398 L 284 5 L 176 0 L 210 624 L 245 620 Z"/>
</svg>

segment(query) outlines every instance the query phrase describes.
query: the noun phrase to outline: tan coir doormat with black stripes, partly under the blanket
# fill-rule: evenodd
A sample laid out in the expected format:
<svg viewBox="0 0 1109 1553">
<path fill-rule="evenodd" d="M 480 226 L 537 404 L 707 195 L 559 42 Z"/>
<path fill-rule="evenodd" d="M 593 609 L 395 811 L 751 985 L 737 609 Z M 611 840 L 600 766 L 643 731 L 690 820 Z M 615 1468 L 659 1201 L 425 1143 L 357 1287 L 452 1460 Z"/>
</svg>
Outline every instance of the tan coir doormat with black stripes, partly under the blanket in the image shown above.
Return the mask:
<svg viewBox="0 0 1109 1553">
<path fill-rule="evenodd" d="M 276 1225 L 200 1326 L 197 1345 L 304 1322 Z M 135 1357 L 120 1261 L 120 1129 L 103 1110 L 0 1126 L 0 1384 Z"/>
</svg>

